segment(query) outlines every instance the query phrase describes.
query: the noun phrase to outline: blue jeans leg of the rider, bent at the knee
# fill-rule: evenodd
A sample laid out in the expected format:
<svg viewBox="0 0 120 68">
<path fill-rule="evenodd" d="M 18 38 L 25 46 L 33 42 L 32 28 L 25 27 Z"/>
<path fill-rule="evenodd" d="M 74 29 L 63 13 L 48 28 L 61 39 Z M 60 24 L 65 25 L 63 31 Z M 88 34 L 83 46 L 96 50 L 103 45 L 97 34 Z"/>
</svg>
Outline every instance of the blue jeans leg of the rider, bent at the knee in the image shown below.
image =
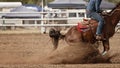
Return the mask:
<svg viewBox="0 0 120 68">
<path fill-rule="evenodd" d="M 97 35 L 101 35 L 102 34 L 103 25 L 104 25 L 103 18 L 100 16 L 100 14 L 98 14 L 96 12 L 87 12 L 87 16 L 89 18 L 92 18 L 92 19 L 95 19 L 95 20 L 98 21 L 98 27 L 97 27 L 96 34 Z"/>
</svg>

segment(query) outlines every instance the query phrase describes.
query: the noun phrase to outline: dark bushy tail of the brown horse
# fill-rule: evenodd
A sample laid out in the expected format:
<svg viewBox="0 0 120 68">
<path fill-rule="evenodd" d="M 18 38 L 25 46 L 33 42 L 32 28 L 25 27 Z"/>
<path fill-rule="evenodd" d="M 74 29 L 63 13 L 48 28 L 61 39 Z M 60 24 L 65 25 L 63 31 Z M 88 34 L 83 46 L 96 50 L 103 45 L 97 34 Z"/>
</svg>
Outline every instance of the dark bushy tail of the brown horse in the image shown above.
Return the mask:
<svg viewBox="0 0 120 68">
<path fill-rule="evenodd" d="M 64 38 L 64 35 L 62 35 L 59 30 L 55 30 L 53 28 L 50 29 L 49 36 L 52 39 L 52 43 L 55 49 L 58 46 L 59 39 Z"/>
</svg>

